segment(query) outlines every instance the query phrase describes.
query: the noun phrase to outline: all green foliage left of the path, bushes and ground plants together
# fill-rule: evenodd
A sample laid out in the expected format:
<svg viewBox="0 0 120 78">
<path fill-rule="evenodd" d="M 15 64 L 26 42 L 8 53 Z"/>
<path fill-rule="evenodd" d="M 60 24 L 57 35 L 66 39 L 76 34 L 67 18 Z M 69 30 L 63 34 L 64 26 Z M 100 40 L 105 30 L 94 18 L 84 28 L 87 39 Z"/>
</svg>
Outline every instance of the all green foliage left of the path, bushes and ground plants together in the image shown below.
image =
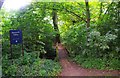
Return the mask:
<svg viewBox="0 0 120 78">
<path fill-rule="evenodd" d="M 18 12 L 0 12 L 3 76 L 56 76 L 61 71 L 58 62 L 39 58 L 44 54 L 56 57 L 52 48 L 56 32 L 50 24 L 51 10 L 46 9 L 46 4 L 36 2 Z M 13 59 L 9 59 L 11 29 L 22 30 L 24 47 L 24 56 L 21 56 L 21 45 L 12 45 Z"/>
</svg>

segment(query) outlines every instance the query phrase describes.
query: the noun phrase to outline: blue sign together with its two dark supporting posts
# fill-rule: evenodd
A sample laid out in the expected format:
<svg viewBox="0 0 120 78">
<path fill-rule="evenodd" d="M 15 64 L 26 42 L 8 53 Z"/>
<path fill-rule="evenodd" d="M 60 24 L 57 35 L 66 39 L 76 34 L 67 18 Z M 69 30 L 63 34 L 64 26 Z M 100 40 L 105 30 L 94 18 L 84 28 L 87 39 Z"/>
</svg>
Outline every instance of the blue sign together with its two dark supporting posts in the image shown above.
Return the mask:
<svg viewBox="0 0 120 78">
<path fill-rule="evenodd" d="M 12 54 L 12 44 L 22 44 L 22 55 L 24 55 L 23 51 L 23 41 L 22 41 L 22 31 L 21 30 L 10 30 L 10 51 L 11 51 L 11 58 Z"/>
</svg>

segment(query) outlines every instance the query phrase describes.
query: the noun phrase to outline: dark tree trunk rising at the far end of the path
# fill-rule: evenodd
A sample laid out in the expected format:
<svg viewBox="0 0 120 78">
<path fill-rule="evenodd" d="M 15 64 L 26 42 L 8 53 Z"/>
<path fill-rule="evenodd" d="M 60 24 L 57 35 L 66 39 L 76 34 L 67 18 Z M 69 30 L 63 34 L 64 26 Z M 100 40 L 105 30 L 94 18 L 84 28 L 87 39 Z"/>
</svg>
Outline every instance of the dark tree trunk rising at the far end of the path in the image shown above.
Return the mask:
<svg viewBox="0 0 120 78">
<path fill-rule="evenodd" d="M 58 29 L 58 24 L 57 24 L 57 11 L 53 9 L 53 25 L 54 25 L 54 30 L 57 32 L 56 37 L 55 37 L 55 44 L 60 43 L 60 34 L 59 34 L 59 29 Z"/>
</svg>

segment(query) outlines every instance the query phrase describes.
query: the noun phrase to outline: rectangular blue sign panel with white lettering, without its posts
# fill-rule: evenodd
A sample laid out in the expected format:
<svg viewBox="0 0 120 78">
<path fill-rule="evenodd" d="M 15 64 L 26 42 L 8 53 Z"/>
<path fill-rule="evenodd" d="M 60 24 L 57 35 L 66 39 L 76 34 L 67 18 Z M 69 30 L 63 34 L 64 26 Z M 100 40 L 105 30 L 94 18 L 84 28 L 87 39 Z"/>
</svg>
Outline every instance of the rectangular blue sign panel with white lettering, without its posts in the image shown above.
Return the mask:
<svg viewBox="0 0 120 78">
<path fill-rule="evenodd" d="M 10 30 L 10 43 L 11 44 L 22 44 L 22 31 L 21 30 Z"/>
</svg>

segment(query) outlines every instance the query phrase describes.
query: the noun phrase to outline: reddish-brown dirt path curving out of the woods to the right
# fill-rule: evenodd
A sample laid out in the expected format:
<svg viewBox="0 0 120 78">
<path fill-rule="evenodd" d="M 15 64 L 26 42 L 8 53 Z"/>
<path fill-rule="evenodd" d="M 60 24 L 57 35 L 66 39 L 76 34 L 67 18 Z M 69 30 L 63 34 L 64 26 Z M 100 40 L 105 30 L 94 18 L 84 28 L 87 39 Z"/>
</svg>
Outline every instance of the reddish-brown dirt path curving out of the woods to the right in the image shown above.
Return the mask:
<svg viewBox="0 0 120 78">
<path fill-rule="evenodd" d="M 78 66 L 67 59 L 67 51 L 61 44 L 58 45 L 58 56 L 62 66 L 59 76 L 120 76 L 118 70 L 85 69 Z"/>
</svg>

